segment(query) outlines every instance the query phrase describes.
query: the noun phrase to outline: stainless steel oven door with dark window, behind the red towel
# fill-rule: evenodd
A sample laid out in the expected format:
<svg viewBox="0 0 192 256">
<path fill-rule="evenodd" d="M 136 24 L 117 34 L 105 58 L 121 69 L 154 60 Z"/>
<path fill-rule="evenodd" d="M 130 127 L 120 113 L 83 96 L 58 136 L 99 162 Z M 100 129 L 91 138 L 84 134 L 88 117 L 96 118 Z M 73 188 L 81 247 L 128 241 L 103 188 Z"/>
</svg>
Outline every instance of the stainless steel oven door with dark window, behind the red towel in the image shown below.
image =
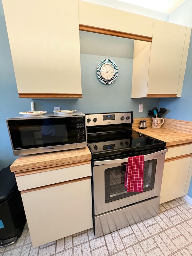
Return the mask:
<svg viewBox="0 0 192 256">
<path fill-rule="evenodd" d="M 145 155 L 143 192 L 127 192 L 124 187 L 128 158 L 93 162 L 95 215 L 158 196 L 167 149 Z"/>
</svg>

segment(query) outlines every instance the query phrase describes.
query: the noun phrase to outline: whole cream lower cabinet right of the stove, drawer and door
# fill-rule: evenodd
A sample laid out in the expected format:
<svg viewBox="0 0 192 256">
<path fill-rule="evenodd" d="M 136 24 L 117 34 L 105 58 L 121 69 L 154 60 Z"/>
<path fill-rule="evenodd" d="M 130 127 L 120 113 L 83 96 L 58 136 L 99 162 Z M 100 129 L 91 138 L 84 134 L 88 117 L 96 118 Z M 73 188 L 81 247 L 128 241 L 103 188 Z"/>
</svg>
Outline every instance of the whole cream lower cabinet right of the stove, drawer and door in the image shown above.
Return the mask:
<svg viewBox="0 0 192 256">
<path fill-rule="evenodd" d="M 168 149 L 164 164 L 160 203 L 188 193 L 192 176 L 191 153 L 191 144 Z"/>
</svg>

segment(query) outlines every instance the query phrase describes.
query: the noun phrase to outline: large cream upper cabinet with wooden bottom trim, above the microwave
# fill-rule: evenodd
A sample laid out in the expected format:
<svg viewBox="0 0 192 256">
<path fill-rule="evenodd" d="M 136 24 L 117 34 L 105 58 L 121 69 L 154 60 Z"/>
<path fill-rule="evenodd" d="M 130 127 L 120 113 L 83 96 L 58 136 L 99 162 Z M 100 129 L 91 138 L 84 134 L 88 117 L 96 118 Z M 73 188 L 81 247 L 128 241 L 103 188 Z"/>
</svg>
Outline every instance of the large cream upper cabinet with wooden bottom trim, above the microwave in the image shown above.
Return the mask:
<svg viewBox="0 0 192 256">
<path fill-rule="evenodd" d="M 78 0 L 3 0 L 19 97 L 81 98 Z"/>
</svg>

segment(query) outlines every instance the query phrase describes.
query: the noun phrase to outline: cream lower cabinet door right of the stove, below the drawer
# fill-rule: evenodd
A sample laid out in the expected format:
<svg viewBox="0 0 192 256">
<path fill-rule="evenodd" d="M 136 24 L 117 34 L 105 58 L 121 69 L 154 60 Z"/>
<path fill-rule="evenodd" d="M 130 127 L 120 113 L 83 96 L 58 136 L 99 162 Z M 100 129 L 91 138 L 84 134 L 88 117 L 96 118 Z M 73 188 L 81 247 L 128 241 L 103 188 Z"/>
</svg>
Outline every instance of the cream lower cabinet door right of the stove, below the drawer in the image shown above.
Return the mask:
<svg viewBox="0 0 192 256">
<path fill-rule="evenodd" d="M 186 184 L 189 186 L 191 171 L 189 173 L 191 157 L 186 157 L 164 164 L 163 179 L 161 185 L 160 203 L 182 197 L 187 194 Z"/>
</svg>

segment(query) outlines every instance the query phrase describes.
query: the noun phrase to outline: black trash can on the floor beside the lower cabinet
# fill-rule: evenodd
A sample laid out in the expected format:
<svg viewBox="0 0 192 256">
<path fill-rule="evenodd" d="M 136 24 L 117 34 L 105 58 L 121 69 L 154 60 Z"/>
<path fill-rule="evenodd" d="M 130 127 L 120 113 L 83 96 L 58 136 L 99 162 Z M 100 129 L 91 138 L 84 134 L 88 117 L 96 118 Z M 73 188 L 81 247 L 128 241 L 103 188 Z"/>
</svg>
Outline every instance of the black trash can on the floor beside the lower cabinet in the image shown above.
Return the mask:
<svg viewBox="0 0 192 256">
<path fill-rule="evenodd" d="M 0 247 L 16 242 L 25 224 L 21 194 L 8 166 L 0 171 Z"/>
</svg>

